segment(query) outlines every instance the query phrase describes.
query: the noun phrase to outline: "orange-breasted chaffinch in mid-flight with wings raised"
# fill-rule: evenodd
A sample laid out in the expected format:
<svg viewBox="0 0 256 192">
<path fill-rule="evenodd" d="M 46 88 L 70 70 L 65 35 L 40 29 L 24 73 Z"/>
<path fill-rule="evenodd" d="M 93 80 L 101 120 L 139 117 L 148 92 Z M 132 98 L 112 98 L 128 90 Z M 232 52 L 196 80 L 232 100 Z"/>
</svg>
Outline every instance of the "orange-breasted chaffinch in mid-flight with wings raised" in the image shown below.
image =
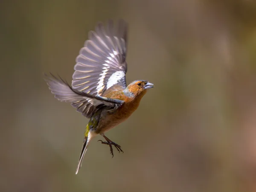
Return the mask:
<svg viewBox="0 0 256 192">
<path fill-rule="evenodd" d="M 132 81 L 126 85 L 127 33 L 125 20 L 108 20 L 96 24 L 88 32 L 88 40 L 80 49 L 74 66 L 71 86 L 60 76 L 44 74 L 49 90 L 61 102 L 71 102 L 76 111 L 89 120 L 82 144 L 76 174 L 82 166 L 84 154 L 90 141 L 101 135 L 106 141 L 98 140 L 120 153 L 121 146 L 105 136 L 105 132 L 116 127 L 138 108 L 142 97 L 154 84 L 145 80 Z"/>
</svg>

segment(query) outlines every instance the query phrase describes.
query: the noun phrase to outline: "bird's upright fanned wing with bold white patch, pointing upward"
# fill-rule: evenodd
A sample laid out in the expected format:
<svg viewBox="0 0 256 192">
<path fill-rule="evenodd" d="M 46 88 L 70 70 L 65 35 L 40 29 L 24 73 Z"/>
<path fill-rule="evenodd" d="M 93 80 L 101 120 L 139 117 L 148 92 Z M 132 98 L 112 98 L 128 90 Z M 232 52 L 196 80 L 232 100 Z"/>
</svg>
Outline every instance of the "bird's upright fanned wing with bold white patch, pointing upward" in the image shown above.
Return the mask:
<svg viewBox="0 0 256 192">
<path fill-rule="evenodd" d="M 73 89 L 96 96 L 102 96 L 113 85 L 125 89 L 127 30 L 124 20 L 116 26 L 109 20 L 107 27 L 98 23 L 95 31 L 89 32 L 89 40 L 76 58 Z"/>
</svg>

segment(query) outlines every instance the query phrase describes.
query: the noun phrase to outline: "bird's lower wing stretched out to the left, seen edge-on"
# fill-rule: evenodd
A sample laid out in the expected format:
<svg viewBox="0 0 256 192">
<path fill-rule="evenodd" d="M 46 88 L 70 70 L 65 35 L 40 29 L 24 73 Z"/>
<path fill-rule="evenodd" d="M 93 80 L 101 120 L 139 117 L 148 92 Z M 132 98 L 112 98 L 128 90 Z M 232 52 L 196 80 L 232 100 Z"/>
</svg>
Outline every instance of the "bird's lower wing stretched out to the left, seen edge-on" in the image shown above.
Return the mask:
<svg viewBox="0 0 256 192">
<path fill-rule="evenodd" d="M 53 75 L 45 75 L 45 77 L 49 89 L 55 95 L 56 99 L 61 102 L 71 102 L 71 105 L 76 108 L 76 111 L 82 113 L 87 118 L 90 118 L 102 106 L 107 106 L 109 110 L 114 110 L 119 108 L 124 102 L 119 99 L 93 96 L 80 92 L 70 87 L 63 79 L 58 79 Z"/>
</svg>

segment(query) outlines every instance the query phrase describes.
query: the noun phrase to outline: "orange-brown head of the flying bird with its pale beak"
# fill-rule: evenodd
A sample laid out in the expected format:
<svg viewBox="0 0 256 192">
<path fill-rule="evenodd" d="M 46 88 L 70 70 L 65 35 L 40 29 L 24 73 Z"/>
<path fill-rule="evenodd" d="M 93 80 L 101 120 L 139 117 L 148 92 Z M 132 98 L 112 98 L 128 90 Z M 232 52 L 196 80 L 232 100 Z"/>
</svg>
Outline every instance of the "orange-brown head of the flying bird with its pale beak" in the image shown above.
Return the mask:
<svg viewBox="0 0 256 192">
<path fill-rule="evenodd" d="M 134 96 L 143 96 L 147 92 L 147 90 L 152 87 L 154 87 L 154 84 L 148 81 L 137 80 L 131 82 L 126 89 L 129 91 L 129 93 L 132 93 Z"/>
</svg>

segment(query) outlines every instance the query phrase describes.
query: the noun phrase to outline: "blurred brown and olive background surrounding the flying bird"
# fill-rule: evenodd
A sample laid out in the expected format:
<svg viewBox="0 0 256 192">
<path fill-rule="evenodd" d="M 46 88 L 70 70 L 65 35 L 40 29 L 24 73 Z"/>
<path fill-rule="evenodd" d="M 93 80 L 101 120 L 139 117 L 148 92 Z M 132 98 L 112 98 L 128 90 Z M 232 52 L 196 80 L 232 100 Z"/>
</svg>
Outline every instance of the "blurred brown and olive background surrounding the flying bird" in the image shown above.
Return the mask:
<svg viewBox="0 0 256 192">
<path fill-rule="evenodd" d="M 154 89 L 75 175 L 88 119 L 54 99 L 98 21 L 129 23 L 127 83 Z M 256 1 L 1 0 L 1 192 L 255 192 Z"/>
</svg>

